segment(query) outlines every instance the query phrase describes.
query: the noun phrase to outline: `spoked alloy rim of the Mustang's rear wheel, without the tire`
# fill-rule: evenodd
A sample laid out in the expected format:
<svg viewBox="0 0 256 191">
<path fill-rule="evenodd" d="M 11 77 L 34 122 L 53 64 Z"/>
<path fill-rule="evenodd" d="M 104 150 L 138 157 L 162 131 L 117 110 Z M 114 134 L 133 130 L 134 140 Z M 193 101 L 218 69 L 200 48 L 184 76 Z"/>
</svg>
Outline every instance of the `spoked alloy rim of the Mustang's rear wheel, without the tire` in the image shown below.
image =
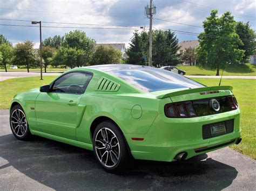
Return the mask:
<svg viewBox="0 0 256 191">
<path fill-rule="evenodd" d="M 104 166 L 115 166 L 120 157 L 120 145 L 116 134 L 109 128 L 100 129 L 95 137 L 95 151 Z"/>
</svg>

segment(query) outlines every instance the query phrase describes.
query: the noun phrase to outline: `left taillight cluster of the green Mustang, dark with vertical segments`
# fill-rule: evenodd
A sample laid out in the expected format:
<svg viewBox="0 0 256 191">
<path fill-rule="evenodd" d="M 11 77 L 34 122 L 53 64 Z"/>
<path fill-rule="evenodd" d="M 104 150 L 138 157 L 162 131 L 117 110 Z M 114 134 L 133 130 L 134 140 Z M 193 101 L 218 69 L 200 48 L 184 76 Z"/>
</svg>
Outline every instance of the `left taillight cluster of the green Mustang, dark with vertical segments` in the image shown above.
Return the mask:
<svg viewBox="0 0 256 191">
<path fill-rule="evenodd" d="M 165 116 L 170 118 L 196 117 L 193 104 L 189 102 L 169 103 L 165 105 Z"/>
</svg>

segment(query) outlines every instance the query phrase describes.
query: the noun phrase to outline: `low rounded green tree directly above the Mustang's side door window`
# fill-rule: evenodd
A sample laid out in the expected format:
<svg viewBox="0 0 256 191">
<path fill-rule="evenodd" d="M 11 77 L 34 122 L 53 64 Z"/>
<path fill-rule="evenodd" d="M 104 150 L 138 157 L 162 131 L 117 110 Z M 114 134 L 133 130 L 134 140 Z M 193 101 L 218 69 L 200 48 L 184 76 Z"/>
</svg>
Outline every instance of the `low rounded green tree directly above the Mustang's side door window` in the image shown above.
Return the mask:
<svg viewBox="0 0 256 191">
<path fill-rule="evenodd" d="M 52 56 L 51 64 L 53 66 L 64 65 L 75 68 L 83 66 L 85 63 L 84 51 L 82 49 L 61 47 Z"/>
</svg>

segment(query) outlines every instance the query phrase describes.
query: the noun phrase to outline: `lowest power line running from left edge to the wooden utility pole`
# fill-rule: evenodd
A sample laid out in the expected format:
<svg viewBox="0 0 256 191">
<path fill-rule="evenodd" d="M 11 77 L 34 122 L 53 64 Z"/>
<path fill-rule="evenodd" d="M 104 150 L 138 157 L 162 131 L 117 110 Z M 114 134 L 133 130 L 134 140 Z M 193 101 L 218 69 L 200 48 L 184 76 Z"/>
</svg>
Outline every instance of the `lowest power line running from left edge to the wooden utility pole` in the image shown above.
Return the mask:
<svg viewBox="0 0 256 191">
<path fill-rule="evenodd" d="M 23 26 L 23 27 L 39 27 L 33 25 L 10 25 L 10 24 L 0 24 L 1 26 Z M 64 28 L 64 29 L 110 29 L 110 30 L 147 30 L 140 28 L 113 28 L 113 27 L 76 27 L 76 26 L 42 26 L 44 28 Z"/>
</svg>

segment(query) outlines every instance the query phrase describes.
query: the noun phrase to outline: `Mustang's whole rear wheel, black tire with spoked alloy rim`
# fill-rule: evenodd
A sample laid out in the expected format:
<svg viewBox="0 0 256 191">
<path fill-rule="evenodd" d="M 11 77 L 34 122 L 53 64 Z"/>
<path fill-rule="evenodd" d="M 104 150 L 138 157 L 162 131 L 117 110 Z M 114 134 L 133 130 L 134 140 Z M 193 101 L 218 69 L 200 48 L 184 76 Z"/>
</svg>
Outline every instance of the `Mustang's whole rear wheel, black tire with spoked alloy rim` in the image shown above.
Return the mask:
<svg viewBox="0 0 256 191">
<path fill-rule="evenodd" d="M 104 138 L 103 132 L 109 133 L 108 136 Z M 113 133 L 116 138 L 114 138 L 111 133 Z M 119 144 L 118 146 L 112 147 L 112 145 L 117 145 L 117 143 Z M 117 151 L 119 151 L 119 157 L 117 157 Z M 129 166 L 130 152 L 126 145 L 125 138 L 122 131 L 112 121 L 104 121 L 96 127 L 93 133 L 93 153 L 100 166 L 107 172 L 122 173 L 125 168 Z M 116 162 L 116 164 L 114 164 L 114 162 Z"/>
</svg>

